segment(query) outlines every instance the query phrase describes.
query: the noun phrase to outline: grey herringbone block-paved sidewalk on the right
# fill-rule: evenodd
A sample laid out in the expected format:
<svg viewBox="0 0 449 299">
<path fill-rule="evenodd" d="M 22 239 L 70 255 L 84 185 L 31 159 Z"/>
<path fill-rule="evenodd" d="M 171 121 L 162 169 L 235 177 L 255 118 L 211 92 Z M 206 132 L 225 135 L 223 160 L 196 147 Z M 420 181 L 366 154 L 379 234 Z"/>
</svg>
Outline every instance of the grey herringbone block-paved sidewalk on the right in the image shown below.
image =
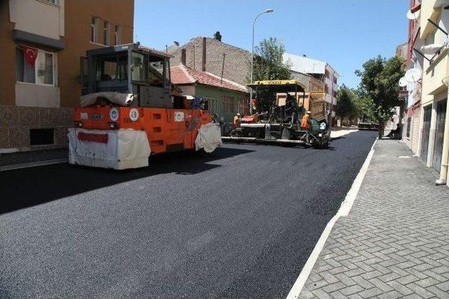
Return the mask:
<svg viewBox="0 0 449 299">
<path fill-rule="evenodd" d="M 449 188 L 400 141 L 379 140 L 300 298 L 449 298 Z M 401 157 L 401 158 L 399 158 Z"/>
</svg>

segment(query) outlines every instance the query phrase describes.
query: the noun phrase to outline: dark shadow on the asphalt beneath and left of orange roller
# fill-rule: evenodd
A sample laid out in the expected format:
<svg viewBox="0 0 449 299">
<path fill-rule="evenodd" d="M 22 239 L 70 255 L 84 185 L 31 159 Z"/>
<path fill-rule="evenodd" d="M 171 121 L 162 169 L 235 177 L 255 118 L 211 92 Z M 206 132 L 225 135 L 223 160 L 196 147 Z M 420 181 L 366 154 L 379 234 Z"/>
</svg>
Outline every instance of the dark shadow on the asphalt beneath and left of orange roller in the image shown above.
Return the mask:
<svg viewBox="0 0 449 299">
<path fill-rule="evenodd" d="M 152 157 L 149 167 L 140 169 L 114 170 L 56 164 L 0 172 L 0 214 L 157 174 L 199 174 L 220 167 L 209 162 L 250 152 L 253 151 L 218 148 L 210 154 L 168 153 Z"/>
</svg>

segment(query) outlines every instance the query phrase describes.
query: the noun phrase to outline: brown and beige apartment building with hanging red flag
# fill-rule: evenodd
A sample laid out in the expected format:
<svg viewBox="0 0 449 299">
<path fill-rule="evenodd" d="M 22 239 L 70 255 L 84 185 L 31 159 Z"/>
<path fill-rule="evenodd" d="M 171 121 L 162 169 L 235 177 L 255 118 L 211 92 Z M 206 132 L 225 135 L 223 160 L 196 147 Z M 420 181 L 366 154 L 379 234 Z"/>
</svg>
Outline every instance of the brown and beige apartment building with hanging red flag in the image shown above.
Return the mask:
<svg viewBox="0 0 449 299">
<path fill-rule="evenodd" d="M 0 153 L 67 146 L 86 50 L 133 41 L 133 0 L 0 1 Z"/>
</svg>

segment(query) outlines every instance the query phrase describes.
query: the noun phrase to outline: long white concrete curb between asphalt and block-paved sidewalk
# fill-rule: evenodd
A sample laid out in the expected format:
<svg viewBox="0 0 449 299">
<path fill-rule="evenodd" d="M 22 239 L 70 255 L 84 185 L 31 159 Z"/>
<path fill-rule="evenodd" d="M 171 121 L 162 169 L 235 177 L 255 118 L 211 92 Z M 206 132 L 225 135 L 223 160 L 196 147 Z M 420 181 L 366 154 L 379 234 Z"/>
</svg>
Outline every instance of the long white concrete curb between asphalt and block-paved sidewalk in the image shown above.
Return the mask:
<svg viewBox="0 0 449 299">
<path fill-rule="evenodd" d="M 326 244 L 326 240 L 328 239 L 330 232 L 332 231 L 332 228 L 335 225 L 335 222 L 337 222 L 338 218 L 342 216 L 343 217 L 348 216 L 349 211 L 351 211 L 352 205 L 356 200 L 358 190 L 360 190 L 363 178 L 365 177 L 365 174 L 368 171 L 368 167 L 370 166 L 371 159 L 373 158 L 374 146 L 377 140 L 378 139 L 376 138 L 376 140 L 373 143 L 373 146 L 371 146 L 371 151 L 368 153 L 365 162 L 363 162 L 363 165 L 360 171 L 358 172 L 356 179 L 352 183 L 351 189 L 349 189 L 346 197 L 344 197 L 344 201 L 342 202 L 340 209 L 338 209 L 337 214 L 335 214 L 335 216 L 333 216 L 333 218 L 330 219 L 330 221 L 326 225 L 326 228 L 324 228 L 323 232 L 321 233 L 321 237 L 319 238 L 318 242 L 316 242 L 314 250 L 311 252 L 309 258 L 307 259 L 307 262 L 305 263 L 304 267 L 300 272 L 300 276 L 297 277 L 295 284 L 293 284 L 293 287 L 290 289 L 290 292 L 287 295 L 288 299 L 294 299 L 300 296 L 302 287 L 307 281 L 307 278 L 309 277 L 311 270 L 314 268 L 316 260 L 319 258 L 319 255 L 323 250 L 324 245 Z"/>
</svg>

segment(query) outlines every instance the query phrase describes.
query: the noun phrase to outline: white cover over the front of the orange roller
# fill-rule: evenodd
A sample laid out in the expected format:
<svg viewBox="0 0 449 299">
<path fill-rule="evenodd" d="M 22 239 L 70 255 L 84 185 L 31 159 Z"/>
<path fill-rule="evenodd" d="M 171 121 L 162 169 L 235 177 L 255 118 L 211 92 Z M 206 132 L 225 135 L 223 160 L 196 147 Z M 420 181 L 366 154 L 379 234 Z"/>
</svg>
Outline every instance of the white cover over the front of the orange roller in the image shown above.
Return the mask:
<svg viewBox="0 0 449 299">
<path fill-rule="evenodd" d="M 107 143 L 80 141 L 79 132 L 107 134 Z M 146 167 L 150 153 L 145 131 L 69 129 L 70 164 L 114 169 Z"/>
</svg>

